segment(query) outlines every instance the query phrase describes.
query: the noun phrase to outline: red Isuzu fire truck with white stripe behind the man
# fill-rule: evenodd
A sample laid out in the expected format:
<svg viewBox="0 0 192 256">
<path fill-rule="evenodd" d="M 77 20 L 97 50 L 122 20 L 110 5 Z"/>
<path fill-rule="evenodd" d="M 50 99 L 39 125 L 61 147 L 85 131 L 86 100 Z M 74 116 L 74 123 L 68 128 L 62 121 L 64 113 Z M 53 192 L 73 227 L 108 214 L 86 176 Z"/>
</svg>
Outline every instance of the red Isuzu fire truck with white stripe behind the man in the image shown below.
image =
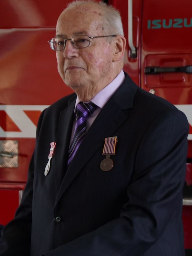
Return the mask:
<svg viewBox="0 0 192 256">
<path fill-rule="evenodd" d="M 72 91 L 47 41 L 70 0 L 0 0 L 0 224 L 14 218 L 35 146 L 41 111 Z M 127 39 L 124 70 L 188 118 L 183 189 L 185 249 L 192 249 L 192 1 L 109 0 Z M 51 122 L 51 120 L 50 120 Z M 192 253 L 192 251 L 191 251 Z"/>
</svg>

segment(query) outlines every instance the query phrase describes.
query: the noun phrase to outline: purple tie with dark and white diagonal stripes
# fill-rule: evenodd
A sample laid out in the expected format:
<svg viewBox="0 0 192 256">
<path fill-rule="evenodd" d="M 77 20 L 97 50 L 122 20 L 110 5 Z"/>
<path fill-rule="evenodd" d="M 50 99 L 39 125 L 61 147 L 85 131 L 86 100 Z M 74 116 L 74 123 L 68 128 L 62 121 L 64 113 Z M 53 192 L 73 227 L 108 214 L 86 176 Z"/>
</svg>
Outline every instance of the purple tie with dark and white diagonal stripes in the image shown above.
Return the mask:
<svg viewBox="0 0 192 256">
<path fill-rule="evenodd" d="M 76 123 L 75 123 L 75 132 L 70 145 L 68 153 L 68 165 L 75 156 L 76 151 L 78 150 L 86 132 L 86 119 L 89 115 L 95 111 L 97 106 L 93 103 L 83 103 L 80 102 L 77 104 L 76 110 Z"/>
</svg>

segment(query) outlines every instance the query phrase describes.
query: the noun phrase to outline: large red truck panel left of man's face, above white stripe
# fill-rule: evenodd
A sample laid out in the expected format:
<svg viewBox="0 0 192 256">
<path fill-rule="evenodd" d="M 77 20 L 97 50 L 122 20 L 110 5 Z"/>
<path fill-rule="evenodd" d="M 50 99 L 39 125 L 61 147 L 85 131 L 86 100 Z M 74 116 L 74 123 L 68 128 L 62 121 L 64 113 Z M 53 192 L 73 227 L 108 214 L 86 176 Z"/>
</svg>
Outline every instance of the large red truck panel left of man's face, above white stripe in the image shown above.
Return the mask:
<svg viewBox="0 0 192 256">
<path fill-rule="evenodd" d="M 72 92 L 57 72 L 47 41 L 54 29 L 3 30 L 0 49 L 1 104 L 48 105 Z M 50 74 L 50 75 L 48 75 Z"/>
</svg>

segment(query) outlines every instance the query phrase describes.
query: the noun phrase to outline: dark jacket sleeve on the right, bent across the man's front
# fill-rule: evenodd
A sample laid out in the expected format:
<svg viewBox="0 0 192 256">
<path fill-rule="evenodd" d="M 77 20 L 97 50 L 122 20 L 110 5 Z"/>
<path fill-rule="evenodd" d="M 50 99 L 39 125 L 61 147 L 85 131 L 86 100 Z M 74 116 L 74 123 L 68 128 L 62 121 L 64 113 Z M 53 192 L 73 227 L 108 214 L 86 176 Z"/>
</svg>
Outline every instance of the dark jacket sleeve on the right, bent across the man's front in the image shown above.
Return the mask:
<svg viewBox="0 0 192 256">
<path fill-rule="evenodd" d="M 188 129 L 185 115 L 176 109 L 156 117 L 138 147 L 119 218 L 44 256 L 143 255 L 182 209 Z"/>
</svg>

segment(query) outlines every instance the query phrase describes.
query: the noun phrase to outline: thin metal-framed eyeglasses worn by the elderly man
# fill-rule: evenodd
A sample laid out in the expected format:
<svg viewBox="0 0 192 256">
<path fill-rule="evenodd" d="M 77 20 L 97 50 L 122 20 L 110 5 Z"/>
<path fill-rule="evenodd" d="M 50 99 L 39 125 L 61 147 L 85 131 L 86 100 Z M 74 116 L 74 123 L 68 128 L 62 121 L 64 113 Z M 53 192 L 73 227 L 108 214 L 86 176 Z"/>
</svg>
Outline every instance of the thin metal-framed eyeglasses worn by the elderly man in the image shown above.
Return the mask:
<svg viewBox="0 0 192 256">
<path fill-rule="evenodd" d="M 116 35 L 110 35 L 110 36 L 116 36 Z M 55 37 L 48 41 L 50 44 L 51 50 L 54 51 L 62 51 L 65 48 L 67 40 L 70 40 L 73 47 L 76 49 L 81 49 L 88 47 L 90 45 L 90 39 L 91 38 L 99 38 L 99 37 L 109 37 L 109 36 L 73 36 L 71 39 L 67 38 L 64 39 L 62 37 Z"/>
</svg>

